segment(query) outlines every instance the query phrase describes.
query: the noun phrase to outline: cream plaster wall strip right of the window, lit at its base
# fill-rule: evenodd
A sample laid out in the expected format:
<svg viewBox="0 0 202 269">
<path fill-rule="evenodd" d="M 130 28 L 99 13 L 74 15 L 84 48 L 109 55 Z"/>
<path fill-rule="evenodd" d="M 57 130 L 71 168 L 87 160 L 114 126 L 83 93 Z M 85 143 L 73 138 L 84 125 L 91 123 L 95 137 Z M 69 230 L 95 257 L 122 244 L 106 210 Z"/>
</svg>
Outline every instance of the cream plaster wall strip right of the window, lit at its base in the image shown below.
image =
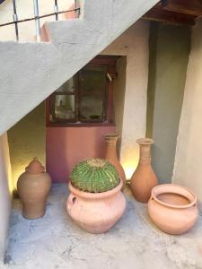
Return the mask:
<svg viewBox="0 0 202 269">
<path fill-rule="evenodd" d="M 123 109 L 120 161 L 127 178 L 136 169 L 139 158 L 136 139 L 145 137 L 146 99 L 149 61 L 149 22 L 138 21 L 102 54 L 127 56 L 126 91 Z"/>
</svg>

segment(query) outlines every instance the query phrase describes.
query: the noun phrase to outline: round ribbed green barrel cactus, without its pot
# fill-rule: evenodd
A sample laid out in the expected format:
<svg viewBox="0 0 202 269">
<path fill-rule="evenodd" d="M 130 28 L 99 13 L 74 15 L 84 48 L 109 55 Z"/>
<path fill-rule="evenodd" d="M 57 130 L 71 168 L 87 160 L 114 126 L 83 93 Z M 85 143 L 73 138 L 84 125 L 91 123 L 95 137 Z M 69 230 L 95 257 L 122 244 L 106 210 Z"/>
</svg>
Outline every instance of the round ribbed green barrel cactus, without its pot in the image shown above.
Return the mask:
<svg viewBox="0 0 202 269">
<path fill-rule="evenodd" d="M 75 166 L 71 183 L 84 192 L 102 193 L 119 185 L 119 174 L 110 162 L 91 158 Z"/>
</svg>

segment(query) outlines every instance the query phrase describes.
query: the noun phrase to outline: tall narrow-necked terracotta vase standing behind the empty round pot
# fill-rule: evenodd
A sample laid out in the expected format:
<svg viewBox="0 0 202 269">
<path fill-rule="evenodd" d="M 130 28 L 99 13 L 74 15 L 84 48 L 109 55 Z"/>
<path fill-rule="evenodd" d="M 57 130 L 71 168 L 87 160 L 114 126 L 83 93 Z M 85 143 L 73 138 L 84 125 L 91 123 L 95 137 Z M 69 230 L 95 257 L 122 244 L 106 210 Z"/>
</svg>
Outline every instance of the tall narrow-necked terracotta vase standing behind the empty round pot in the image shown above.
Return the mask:
<svg viewBox="0 0 202 269">
<path fill-rule="evenodd" d="M 151 166 L 151 138 L 140 138 L 136 140 L 140 146 L 140 158 L 136 171 L 134 172 L 130 187 L 136 200 L 147 203 L 149 201 L 152 188 L 158 184 L 158 179 Z"/>
</svg>

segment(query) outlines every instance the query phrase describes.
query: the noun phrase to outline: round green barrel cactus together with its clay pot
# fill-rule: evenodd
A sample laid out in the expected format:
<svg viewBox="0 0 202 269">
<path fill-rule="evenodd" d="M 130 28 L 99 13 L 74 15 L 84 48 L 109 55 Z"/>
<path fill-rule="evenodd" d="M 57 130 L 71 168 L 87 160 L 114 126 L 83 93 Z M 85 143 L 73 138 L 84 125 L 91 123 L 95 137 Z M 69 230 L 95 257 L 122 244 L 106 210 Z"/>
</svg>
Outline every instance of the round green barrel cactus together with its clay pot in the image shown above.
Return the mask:
<svg viewBox="0 0 202 269">
<path fill-rule="evenodd" d="M 101 233 L 122 216 L 126 200 L 122 180 L 110 162 L 98 158 L 79 162 L 69 182 L 67 212 L 84 230 Z"/>
</svg>

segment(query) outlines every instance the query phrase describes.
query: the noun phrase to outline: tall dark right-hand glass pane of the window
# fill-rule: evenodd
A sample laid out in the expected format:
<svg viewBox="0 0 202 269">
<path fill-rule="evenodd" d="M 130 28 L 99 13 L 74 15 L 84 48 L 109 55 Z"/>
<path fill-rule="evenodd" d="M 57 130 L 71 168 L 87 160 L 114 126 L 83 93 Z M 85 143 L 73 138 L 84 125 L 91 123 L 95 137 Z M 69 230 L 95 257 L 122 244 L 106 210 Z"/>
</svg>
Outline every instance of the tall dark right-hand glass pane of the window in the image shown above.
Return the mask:
<svg viewBox="0 0 202 269">
<path fill-rule="evenodd" d="M 85 67 L 80 76 L 81 120 L 103 121 L 106 75 L 104 66 Z"/>
</svg>

